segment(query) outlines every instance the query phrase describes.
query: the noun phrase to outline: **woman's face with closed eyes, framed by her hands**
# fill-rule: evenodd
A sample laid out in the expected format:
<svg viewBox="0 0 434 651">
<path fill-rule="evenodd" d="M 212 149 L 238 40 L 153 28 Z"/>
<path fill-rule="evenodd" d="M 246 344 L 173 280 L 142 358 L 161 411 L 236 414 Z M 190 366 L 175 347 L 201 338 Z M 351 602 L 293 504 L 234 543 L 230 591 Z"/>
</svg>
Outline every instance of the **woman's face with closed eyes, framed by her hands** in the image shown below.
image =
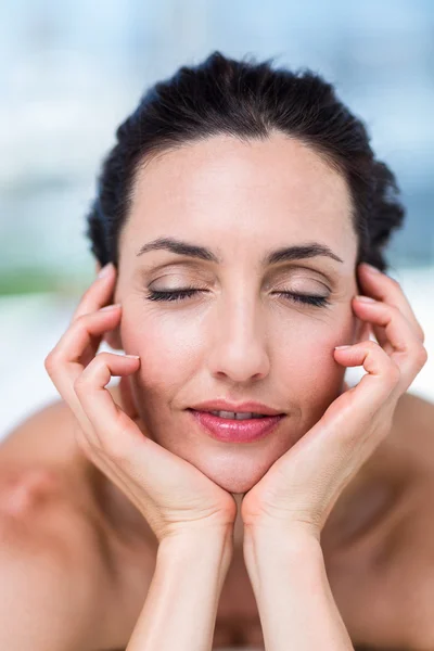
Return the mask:
<svg viewBox="0 0 434 651">
<path fill-rule="evenodd" d="M 209 259 L 159 238 L 206 248 Z M 265 258 L 317 243 L 327 255 Z M 339 395 L 345 369 L 334 346 L 356 341 L 357 239 L 343 178 L 310 149 L 276 133 L 265 141 L 218 136 L 166 152 L 137 178 L 119 242 L 119 336 L 141 366 L 129 379 L 150 436 L 222 488 L 245 493 Z M 215 257 L 215 259 L 214 259 Z M 151 291 L 194 288 L 182 301 Z M 279 292 L 327 298 L 322 307 Z M 188 408 L 255 400 L 286 416 L 255 443 L 209 437 Z"/>
</svg>

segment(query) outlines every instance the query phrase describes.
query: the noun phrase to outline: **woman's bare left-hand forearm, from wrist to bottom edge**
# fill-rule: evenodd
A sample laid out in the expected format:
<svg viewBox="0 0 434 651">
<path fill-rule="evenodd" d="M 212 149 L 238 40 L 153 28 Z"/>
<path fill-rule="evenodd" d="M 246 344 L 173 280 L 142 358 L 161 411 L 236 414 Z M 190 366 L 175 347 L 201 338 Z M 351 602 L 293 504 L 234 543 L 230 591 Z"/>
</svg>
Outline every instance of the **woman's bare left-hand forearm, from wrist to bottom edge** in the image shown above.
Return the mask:
<svg viewBox="0 0 434 651">
<path fill-rule="evenodd" d="M 229 529 L 163 540 L 127 651 L 210 650 L 231 556 Z"/>
</svg>

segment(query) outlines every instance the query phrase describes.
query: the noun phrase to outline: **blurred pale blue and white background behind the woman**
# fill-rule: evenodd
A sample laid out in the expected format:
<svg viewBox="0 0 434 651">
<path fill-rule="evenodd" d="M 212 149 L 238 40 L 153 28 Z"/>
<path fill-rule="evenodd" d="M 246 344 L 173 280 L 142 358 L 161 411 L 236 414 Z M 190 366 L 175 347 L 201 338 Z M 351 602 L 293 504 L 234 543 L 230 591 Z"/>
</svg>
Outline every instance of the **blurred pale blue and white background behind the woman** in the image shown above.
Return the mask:
<svg viewBox="0 0 434 651">
<path fill-rule="evenodd" d="M 434 401 L 434 2 L 3 0 L 0 437 L 59 397 L 43 359 L 93 279 L 85 213 L 118 124 L 214 50 L 310 67 L 367 124 L 408 210 L 388 259 L 426 333 L 410 391 Z"/>
</svg>

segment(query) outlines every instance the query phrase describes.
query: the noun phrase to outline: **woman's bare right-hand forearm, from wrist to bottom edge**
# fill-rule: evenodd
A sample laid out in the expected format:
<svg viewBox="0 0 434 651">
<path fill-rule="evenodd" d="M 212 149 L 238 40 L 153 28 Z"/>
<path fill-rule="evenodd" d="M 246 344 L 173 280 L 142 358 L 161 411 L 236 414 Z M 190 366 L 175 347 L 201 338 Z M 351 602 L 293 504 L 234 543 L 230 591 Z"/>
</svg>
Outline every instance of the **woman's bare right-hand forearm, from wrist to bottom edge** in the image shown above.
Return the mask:
<svg viewBox="0 0 434 651">
<path fill-rule="evenodd" d="M 244 559 L 267 651 L 353 650 L 316 538 L 245 531 Z"/>
</svg>

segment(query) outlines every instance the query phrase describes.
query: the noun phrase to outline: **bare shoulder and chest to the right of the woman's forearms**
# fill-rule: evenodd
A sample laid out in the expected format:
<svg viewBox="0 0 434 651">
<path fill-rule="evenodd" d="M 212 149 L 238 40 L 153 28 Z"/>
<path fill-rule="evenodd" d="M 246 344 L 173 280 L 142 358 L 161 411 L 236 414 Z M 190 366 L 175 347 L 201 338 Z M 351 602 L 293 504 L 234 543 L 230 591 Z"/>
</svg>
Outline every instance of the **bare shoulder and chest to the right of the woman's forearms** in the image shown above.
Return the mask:
<svg viewBox="0 0 434 651">
<path fill-rule="evenodd" d="M 404 394 L 323 531 L 333 596 L 362 647 L 434 649 L 433 434 L 433 403 Z"/>
</svg>

